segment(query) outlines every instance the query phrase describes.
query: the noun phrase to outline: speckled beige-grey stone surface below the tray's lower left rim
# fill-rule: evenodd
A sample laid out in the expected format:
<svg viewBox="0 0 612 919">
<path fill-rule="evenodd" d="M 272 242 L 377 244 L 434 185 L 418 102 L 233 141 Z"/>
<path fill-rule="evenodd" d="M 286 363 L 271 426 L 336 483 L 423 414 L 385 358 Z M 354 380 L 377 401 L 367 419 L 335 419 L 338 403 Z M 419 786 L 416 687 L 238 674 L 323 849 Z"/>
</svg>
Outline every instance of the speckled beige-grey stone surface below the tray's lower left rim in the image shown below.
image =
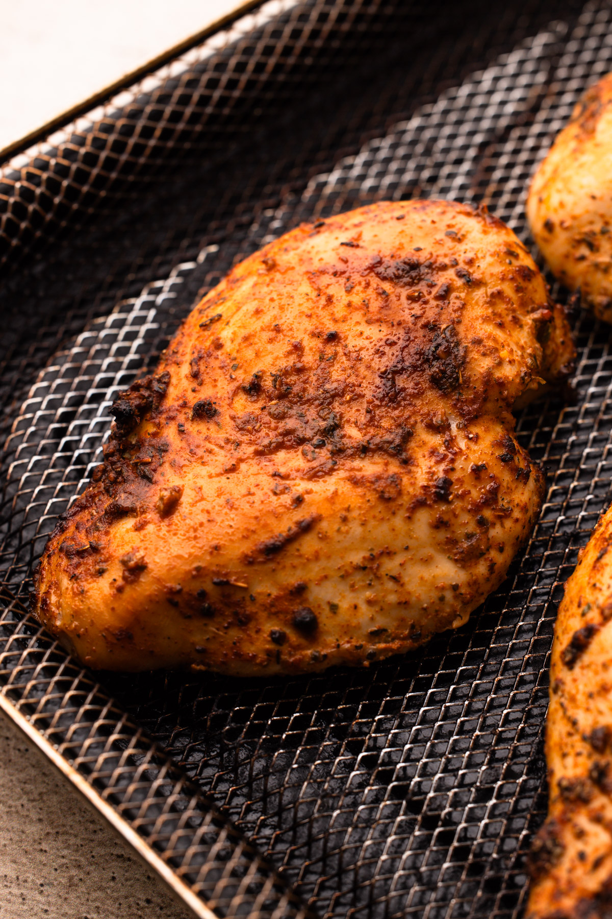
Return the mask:
<svg viewBox="0 0 612 919">
<path fill-rule="evenodd" d="M 193 919 L 0 714 L 0 919 Z"/>
</svg>

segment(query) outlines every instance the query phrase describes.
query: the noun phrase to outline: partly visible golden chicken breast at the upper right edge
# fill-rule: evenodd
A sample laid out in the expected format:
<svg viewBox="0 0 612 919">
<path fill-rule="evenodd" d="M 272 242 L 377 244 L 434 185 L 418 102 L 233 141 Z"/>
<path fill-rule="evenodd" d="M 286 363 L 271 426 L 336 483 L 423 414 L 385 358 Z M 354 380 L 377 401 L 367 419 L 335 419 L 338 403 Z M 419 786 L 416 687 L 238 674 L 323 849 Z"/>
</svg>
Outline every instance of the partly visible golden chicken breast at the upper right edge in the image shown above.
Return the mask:
<svg viewBox="0 0 612 919">
<path fill-rule="evenodd" d="M 533 177 L 527 213 L 553 274 L 612 323 L 612 74 L 573 110 Z"/>
</svg>

